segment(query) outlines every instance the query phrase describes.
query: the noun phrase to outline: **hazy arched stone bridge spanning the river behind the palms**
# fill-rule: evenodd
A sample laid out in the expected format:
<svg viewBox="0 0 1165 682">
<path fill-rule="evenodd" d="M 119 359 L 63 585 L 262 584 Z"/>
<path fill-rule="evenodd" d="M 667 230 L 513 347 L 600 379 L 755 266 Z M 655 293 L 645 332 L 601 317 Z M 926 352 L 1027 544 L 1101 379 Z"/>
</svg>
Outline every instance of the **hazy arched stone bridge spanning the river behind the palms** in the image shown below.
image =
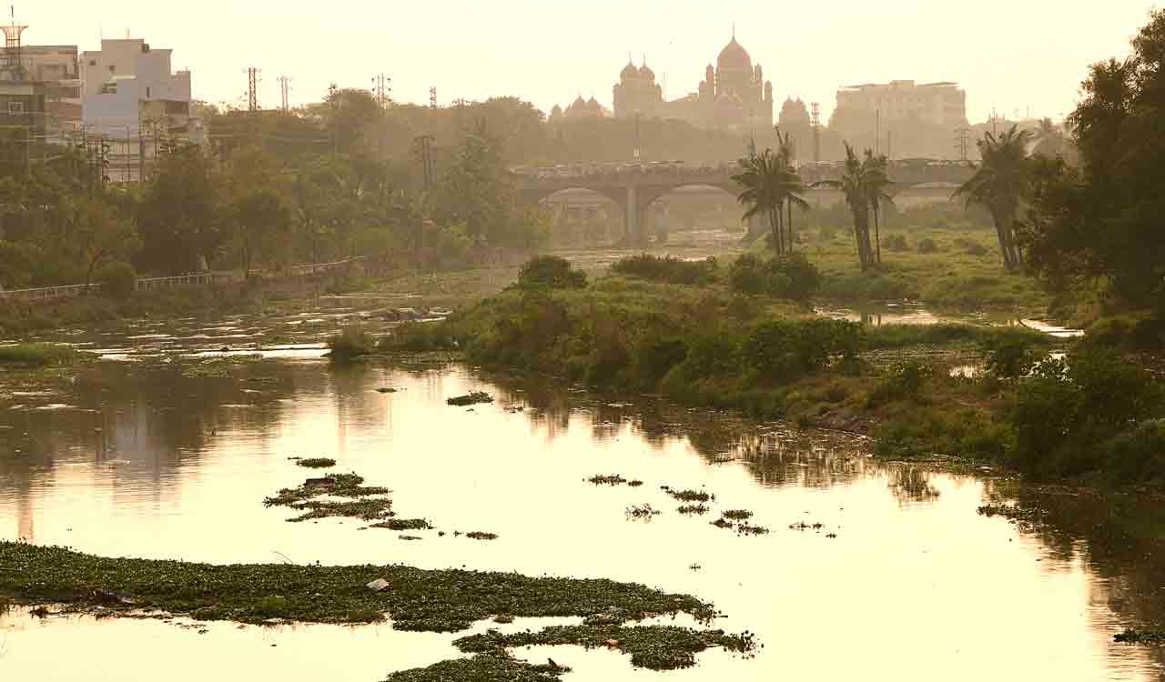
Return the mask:
<svg viewBox="0 0 1165 682">
<path fill-rule="evenodd" d="M 566 190 L 589 190 L 607 197 L 623 207 L 628 241 L 643 243 L 644 216 L 652 201 L 680 187 L 711 186 L 737 194 L 740 185 L 732 178 L 740 172 L 736 162 L 687 164 L 683 162 L 652 162 L 628 164 L 571 164 L 553 168 L 514 169 L 517 191 L 530 203 L 537 204 L 551 194 Z M 841 177 L 842 164 L 836 162 L 810 163 L 798 168 L 806 185 Z M 935 159 L 904 159 L 890 162 L 891 193 L 919 185 L 955 186 L 974 172 L 963 162 Z"/>
</svg>

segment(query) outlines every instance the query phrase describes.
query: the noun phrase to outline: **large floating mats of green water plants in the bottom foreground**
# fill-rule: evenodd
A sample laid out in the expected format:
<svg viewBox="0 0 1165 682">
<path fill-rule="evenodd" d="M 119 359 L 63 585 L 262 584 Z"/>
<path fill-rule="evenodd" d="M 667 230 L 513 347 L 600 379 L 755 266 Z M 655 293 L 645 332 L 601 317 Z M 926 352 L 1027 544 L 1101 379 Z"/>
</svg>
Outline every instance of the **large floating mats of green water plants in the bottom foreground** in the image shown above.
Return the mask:
<svg viewBox="0 0 1165 682">
<path fill-rule="evenodd" d="M 459 632 L 495 616 L 584 617 L 585 625 L 541 632 L 467 637 L 458 648 L 471 659 L 407 670 L 390 680 L 556 680 L 567 668 L 530 666 L 507 647 L 536 644 L 609 646 L 635 666 L 686 667 L 694 654 L 719 646 L 749 652 L 749 633 L 671 626 L 624 627 L 624 623 L 687 613 L 709 623 L 719 614 L 706 602 L 634 583 L 608 580 L 527 577 L 471 570 L 422 570 L 405 566 L 213 566 L 181 561 L 108 559 L 64 547 L 0 541 L 0 592 L 26 604 L 70 604 L 79 611 L 164 612 L 199 620 L 263 623 L 368 623 L 383 614 L 395 630 Z M 368 583 L 383 580 L 373 591 Z M 112 597 L 111 597 L 112 596 Z"/>
</svg>

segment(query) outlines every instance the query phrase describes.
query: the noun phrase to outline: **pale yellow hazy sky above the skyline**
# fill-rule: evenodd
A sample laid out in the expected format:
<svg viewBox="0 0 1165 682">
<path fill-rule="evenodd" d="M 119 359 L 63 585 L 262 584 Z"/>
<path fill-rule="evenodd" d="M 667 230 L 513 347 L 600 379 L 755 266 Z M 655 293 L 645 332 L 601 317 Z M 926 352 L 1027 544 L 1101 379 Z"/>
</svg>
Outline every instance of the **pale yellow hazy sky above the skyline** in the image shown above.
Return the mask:
<svg viewBox="0 0 1165 682">
<path fill-rule="evenodd" d="M 973 122 L 990 115 L 1060 119 L 1078 99 L 1088 64 L 1129 51 L 1150 3 L 1031 0 L 697 3 L 676 0 L 156 0 L 20 2 L 26 44 L 99 47 L 146 38 L 174 49 L 193 71 L 195 97 L 241 102 L 247 66 L 262 70 L 260 101 L 278 105 L 276 78 L 294 78 L 292 104 L 327 85 L 370 87 L 393 78 L 401 101 L 518 95 L 543 111 L 577 95 L 610 106 L 612 86 L 634 52 L 665 95 L 694 91 L 704 68 L 736 37 L 764 66 L 775 97 L 833 109 L 839 85 L 956 80 Z"/>
</svg>

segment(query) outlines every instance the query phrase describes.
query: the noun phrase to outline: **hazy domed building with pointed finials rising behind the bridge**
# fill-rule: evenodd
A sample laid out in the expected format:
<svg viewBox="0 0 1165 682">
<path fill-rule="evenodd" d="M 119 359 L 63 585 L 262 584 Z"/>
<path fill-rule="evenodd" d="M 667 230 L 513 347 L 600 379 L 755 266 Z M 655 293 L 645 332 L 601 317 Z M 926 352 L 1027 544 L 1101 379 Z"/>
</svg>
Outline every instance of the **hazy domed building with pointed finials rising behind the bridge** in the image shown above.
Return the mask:
<svg viewBox="0 0 1165 682">
<path fill-rule="evenodd" d="M 635 115 L 679 119 L 716 128 L 768 129 L 772 126 L 772 83 L 764 80 L 760 64 L 753 64 L 733 35 L 720 50 L 716 64 L 708 64 L 697 92 L 665 101 L 663 88 L 647 59 L 638 69 L 628 63 L 614 87 L 615 116 Z"/>
</svg>

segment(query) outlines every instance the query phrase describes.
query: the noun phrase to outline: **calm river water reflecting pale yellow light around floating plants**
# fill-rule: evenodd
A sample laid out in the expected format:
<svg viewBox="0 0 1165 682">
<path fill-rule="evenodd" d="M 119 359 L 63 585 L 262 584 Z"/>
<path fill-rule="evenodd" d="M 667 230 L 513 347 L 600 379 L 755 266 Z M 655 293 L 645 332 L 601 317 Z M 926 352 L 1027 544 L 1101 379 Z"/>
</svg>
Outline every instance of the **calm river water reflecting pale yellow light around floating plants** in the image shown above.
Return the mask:
<svg viewBox="0 0 1165 682">
<path fill-rule="evenodd" d="M 1113 642 L 1124 625 L 1165 612 L 1159 505 L 1125 496 L 1114 506 L 989 473 L 880 462 L 849 435 L 460 364 L 336 368 L 310 334 L 230 371 L 192 361 L 230 343 L 224 336 L 243 346 L 295 322 L 79 335 L 107 360 L 35 381 L 0 376 L 0 538 L 217 563 L 609 577 L 712 601 L 727 614 L 718 626 L 753 631 L 764 645 L 751 659 L 709 651 L 696 668 L 666 674 L 634 669 L 617 652 L 517 652 L 572 666 L 570 681 L 1148 681 L 1165 669 L 1158 651 Z M 471 390 L 496 402 L 445 404 Z M 289 510 L 262 499 L 312 476 L 289 460 L 305 456 L 333 457 L 338 470 L 393 489 L 402 518 L 426 518 L 436 530 L 410 532 L 422 539 L 409 541 L 351 519 L 287 523 Z M 595 474 L 644 485 L 598 488 L 585 481 Z M 661 485 L 706 489 L 713 513 L 680 516 Z M 1021 528 L 976 513 L 1001 498 L 1040 502 L 1050 525 Z M 643 504 L 662 513 L 628 517 Z M 740 537 L 709 524 L 729 509 L 753 511 L 771 532 Z M 810 527 L 790 527 L 803 523 Z M 456 534 L 469 531 L 499 539 Z M 40 681 L 370 682 L 460 655 L 456 637 L 389 624 L 239 627 L 14 610 L 0 614 L 0 672 Z"/>
</svg>

